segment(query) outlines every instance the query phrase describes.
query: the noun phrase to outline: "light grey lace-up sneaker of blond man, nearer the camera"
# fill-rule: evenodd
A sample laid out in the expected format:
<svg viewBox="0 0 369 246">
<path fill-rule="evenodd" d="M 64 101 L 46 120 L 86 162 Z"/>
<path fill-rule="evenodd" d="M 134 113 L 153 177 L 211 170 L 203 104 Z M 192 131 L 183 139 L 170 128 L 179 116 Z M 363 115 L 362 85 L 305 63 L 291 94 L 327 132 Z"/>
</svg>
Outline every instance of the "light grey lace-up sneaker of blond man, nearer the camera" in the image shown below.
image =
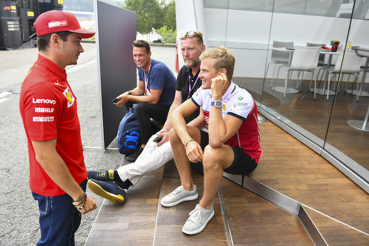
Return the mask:
<svg viewBox="0 0 369 246">
<path fill-rule="evenodd" d="M 199 204 L 189 213 L 189 218 L 184 223 L 182 231 L 188 235 L 194 235 L 205 229 L 209 220 L 214 216 L 213 203 L 210 209 L 204 209 Z"/>
</svg>

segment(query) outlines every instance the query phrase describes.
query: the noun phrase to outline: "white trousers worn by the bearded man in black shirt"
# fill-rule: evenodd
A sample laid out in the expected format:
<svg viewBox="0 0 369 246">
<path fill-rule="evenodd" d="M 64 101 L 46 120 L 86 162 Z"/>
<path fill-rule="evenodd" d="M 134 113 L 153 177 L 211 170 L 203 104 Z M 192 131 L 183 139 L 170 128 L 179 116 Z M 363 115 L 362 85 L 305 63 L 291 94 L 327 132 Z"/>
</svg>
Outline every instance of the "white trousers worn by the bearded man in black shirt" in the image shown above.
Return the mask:
<svg viewBox="0 0 369 246">
<path fill-rule="evenodd" d="M 117 169 L 122 181 L 129 180 L 133 185 L 137 184 L 146 172 L 154 171 L 173 159 L 172 146 L 166 142 L 157 147 L 153 141 L 156 134 L 151 136 L 144 150 L 135 162 L 124 165 Z"/>
</svg>

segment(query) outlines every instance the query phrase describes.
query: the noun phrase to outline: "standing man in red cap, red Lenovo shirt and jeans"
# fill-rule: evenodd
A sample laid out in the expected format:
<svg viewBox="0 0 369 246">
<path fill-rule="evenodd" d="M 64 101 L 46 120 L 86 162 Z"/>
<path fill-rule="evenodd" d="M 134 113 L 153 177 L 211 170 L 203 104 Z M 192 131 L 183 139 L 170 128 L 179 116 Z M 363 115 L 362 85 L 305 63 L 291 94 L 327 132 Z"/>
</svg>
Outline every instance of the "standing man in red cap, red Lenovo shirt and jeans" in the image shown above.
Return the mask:
<svg viewBox="0 0 369 246">
<path fill-rule="evenodd" d="M 33 25 L 39 54 L 23 81 L 19 107 L 28 139 L 30 188 L 40 210 L 37 245 L 74 245 L 81 214 L 96 209 L 96 203 L 85 193 L 77 101 L 65 67 L 77 64 L 84 52 L 81 39 L 95 32 L 58 10 L 42 13 Z"/>
</svg>

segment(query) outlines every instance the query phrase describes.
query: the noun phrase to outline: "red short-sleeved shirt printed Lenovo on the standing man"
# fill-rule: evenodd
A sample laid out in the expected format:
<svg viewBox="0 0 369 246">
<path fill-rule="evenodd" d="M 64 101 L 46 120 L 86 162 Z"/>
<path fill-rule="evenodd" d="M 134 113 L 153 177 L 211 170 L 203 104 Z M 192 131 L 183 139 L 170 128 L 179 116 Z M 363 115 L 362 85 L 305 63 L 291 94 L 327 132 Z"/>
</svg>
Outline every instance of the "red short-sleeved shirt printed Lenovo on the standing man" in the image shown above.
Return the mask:
<svg viewBox="0 0 369 246">
<path fill-rule="evenodd" d="M 86 180 L 77 101 L 65 70 L 38 55 L 23 81 L 19 108 L 28 139 L 31 190 L 43 196 L 65 194 L 37 162 L 31 140 L 57 139 L 56 150 L 74 180 Z"/>
</svg>

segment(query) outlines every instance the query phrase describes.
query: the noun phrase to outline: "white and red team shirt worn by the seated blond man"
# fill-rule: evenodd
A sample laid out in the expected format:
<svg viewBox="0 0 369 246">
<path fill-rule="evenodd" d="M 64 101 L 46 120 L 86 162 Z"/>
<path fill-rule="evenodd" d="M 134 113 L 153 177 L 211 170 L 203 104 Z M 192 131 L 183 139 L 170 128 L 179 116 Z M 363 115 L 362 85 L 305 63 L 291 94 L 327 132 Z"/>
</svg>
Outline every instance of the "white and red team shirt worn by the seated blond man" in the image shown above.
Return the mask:
<svg viewBox="0 0 369 246">
<path fill-rule="evenodd" d="M 202 106 L 205 121 L 209 124 L 209 112 L 212 102 L 212 91 L 203 90 L 201 87 L 192 95 L 192 101 Z M 260 131 L 257 121 L 257 107 L 251 94 L 245 89 L 231 82 L 228 90 L 222 96 L 222 116 L 226 114 L 240 118 L 244 121 L 236 134 L 225 144 L 232 147 L 240 147 L 249 154 L 256 163 L 261 157 Z"/>
</svg>

